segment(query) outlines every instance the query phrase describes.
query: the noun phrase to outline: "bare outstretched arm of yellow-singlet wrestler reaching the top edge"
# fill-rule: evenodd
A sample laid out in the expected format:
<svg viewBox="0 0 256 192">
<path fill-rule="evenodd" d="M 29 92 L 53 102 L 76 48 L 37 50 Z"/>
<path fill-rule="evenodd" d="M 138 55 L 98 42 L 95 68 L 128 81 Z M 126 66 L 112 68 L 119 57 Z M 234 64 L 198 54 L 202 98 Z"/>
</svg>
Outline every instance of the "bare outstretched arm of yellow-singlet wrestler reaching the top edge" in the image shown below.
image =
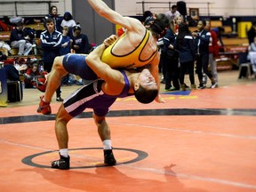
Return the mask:
<svg viewBox="0 0 256 192">
<path fill-rule="evenodd" d="M 98 14 L 101 17 L 106 18 L 110 22 L 123 26 L 124 28 L 127 28 L 128 30 L 131 30 L 131 31 L 145 30 L 140 20 L 122 16 L 118 12 L 115 12 L 112 9 L 110 9 L 108 5 L 105 4 L 103 1 L 101 0 L 97 0 L 97 1 L 87 0 L 87 1 L 89 4 L 91 4 L 95 12 L 98 12 Z"/>
</svg>

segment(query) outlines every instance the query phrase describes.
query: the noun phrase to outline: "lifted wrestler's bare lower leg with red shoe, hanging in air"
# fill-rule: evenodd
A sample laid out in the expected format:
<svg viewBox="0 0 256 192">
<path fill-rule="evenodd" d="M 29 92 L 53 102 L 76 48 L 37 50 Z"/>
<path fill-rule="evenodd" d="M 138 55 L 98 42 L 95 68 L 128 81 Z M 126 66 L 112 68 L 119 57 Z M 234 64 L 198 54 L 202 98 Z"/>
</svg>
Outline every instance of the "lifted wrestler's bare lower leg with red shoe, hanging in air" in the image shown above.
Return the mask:
<svg viewBox="0 0 256 192">
<path fill-rule="evenodd" d="M 38 113 L 42 113 L 44 115 L 52 113 L 52 109 L 50 107 L 52 96 L 60 86 L 62 77 L 68 74 L 68 71 L 63 68 L 63 58 L 64 56 L 56 57 L 53 62 L 52 70 L 47 76 L 47 84 L 44 96 L 41 97 L 39 108 L 37 108 Z"/>
</svg>

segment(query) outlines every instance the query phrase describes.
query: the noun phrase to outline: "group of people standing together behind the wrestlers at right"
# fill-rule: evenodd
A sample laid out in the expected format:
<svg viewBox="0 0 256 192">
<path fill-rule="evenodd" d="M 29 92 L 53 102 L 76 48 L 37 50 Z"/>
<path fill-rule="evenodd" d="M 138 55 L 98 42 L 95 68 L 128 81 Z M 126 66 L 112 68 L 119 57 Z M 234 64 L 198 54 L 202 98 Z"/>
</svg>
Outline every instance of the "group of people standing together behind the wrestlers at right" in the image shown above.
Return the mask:
<svg viewBox="0 0 256 192">
<path fill-rule="evenodd" d="M 218 56 L 219 44 L 217 34 L 211 29 L 210 20 L 198 20 L 196 31 L 190 31 L 183 15 L 172 5 L 172 10 L 165 13 L 170 20 L 166 35 L 158 39 L 161 48 L 161 68 L 166 91 L 186 91 L 185 82 L 188 74 L 190 89 L 204 89 L 208 76 L 210 88 L 218 87 L 218 75 L 215 58 Z M 206 25 L 207 24 L 207 25 Z M 209 71 L 211 64 L 211 71 Z M 195 84 L 195 74 L 199 84 Z"/>
</svg>

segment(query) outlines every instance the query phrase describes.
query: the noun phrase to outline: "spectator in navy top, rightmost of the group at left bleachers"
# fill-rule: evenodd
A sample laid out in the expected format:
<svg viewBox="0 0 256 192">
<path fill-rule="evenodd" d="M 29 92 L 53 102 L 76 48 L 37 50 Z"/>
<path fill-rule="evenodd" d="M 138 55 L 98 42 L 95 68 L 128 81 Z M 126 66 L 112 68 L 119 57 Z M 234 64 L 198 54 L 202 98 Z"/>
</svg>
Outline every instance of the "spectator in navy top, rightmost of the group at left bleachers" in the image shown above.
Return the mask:
<svg viewBox="0 0 256 192">
<path fill-rule="evenodd" d="M 74 37 L 72 39 L 72 49 L 74 50 L 74 52 L 88 54 L 90 50 L 89 40 L 86 35 L 81 33 L 80 24 L 77 24 L 73 28 L 73 33 Z"/>
</svg>

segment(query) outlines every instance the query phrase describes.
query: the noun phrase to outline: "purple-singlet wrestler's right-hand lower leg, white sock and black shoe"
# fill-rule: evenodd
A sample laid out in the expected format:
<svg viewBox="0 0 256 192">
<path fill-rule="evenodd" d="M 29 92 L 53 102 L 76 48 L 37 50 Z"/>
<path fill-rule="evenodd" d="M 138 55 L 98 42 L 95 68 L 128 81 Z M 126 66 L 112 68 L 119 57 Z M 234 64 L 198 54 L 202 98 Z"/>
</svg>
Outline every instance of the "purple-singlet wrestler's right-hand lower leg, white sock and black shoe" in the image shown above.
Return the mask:
<svg viewBox="0 0 256 192">
<path fill-rule="evenodd" d="M 112 144 L 110 140 L 110 129 L 106 122 L 105 116 L 97 116 L 94 113 L 92 116 L 95 124 L 98 127 L 100 140 L 103 142 L 104 163 L 108 165 L 114 165 L 116 164 L 116 159 L 112 152 Z"/>
</svg>

